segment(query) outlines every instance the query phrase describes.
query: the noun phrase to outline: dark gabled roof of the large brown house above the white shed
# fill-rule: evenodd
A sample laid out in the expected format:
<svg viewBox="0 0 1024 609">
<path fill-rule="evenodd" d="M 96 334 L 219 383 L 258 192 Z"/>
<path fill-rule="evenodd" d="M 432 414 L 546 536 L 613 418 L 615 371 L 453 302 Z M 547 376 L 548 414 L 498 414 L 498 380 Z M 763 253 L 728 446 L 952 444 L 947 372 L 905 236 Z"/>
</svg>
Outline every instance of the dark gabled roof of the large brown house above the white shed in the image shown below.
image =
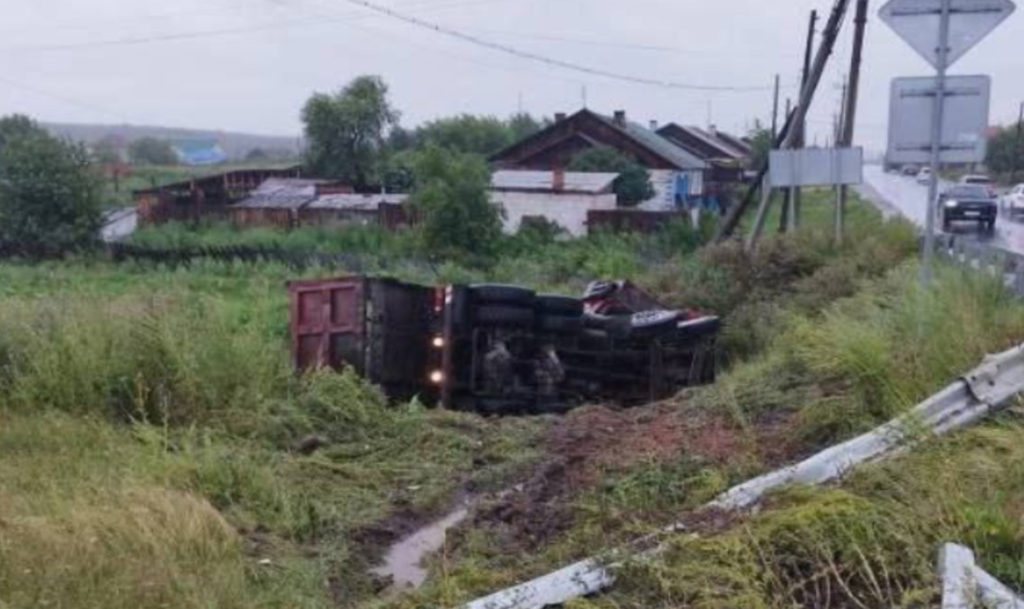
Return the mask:
<svg viewBox="0 0 1024 609">
<path fill-rule="evenodd" d="M 556 162 L 567 162 L 566 157 L 580 146 L 598 145 L 622 149 L 638 158 L 648 169 L 709 168 L 700 159 L 638 123 L 620 122 L 586 108 L 512 144 L 490 160 L 510 168 L 550 169 Z M 565 149 L 559 150 L 560 147 Z"/>
</svg>

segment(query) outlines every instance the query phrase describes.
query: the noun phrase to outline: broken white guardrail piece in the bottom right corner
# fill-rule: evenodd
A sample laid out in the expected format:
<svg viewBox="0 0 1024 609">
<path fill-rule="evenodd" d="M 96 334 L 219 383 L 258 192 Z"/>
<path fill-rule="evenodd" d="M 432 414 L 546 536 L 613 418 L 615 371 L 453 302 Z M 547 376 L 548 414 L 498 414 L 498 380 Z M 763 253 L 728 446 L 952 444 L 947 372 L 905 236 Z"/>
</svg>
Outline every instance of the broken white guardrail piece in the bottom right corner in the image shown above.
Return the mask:
<svg viewBox="0 0 1024 609">
<path fill-rule="evenodd" d="M 1024 609 L 1024 600 L 977 565 L 974 553 L 946 543 L 939 554 L 942 609 Z"/>
</svg>

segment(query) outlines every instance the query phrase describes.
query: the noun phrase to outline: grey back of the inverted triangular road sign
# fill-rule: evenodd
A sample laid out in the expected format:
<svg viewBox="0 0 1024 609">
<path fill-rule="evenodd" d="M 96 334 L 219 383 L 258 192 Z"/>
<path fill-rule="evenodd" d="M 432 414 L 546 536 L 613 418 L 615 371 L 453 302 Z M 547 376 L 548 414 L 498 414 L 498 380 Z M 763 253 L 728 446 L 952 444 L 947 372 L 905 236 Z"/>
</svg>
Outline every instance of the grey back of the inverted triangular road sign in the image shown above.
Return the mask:
<svg viewBox="0 0 1024 609">
<path fill-rule="evenodd" d="M 949 10 L 949 56 L 952 66 L 1013 13 L 1013 0 L 952 0 Z M 939 67 L 942 0 L 891 0 L 882 7 L 882 20 Z"/>
</svg>

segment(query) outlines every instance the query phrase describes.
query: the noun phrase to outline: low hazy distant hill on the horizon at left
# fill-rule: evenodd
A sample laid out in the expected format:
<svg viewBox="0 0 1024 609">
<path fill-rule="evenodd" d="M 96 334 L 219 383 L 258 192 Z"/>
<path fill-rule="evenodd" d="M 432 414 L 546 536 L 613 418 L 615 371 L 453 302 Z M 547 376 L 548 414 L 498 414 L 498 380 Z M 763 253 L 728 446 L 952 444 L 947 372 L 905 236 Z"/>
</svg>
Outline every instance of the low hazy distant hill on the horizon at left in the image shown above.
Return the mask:
<svg viewBox="0 0 1024 609">
<path fill-rule="evenodd" d="M 51 133 L 81 141 L 86 145 L 108 136 L 123 139 L 125 143 L 140 137 L 157 137 L 168 140 L 214 139 L 231 160 L 245 159 L 254 148 L 262 148 L 273 157 L 297 156 L 301 150 L 301 139 L 276 135 L 256 135 L 228 131 L 207 131 L 202 129 L 177 129 L 172 127 L 152 127 L 142 125 L 88 125 L 44 123 Z"/>
</svg>

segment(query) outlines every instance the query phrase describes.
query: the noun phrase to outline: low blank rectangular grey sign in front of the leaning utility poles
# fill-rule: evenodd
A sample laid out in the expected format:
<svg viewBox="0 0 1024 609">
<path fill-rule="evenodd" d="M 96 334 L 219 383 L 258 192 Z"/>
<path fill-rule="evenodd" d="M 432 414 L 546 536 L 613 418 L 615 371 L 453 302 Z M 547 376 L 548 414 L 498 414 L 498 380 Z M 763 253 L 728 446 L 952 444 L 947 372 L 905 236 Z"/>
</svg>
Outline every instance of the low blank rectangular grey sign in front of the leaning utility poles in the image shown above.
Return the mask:
<svg viewBox="0 0 1024 609">
<path fill-rule="evenodd" d="M 864 181 L 864 149 L 772 150 L 768 167 L 773 188 L 856 185 Z"/>
</svg>

